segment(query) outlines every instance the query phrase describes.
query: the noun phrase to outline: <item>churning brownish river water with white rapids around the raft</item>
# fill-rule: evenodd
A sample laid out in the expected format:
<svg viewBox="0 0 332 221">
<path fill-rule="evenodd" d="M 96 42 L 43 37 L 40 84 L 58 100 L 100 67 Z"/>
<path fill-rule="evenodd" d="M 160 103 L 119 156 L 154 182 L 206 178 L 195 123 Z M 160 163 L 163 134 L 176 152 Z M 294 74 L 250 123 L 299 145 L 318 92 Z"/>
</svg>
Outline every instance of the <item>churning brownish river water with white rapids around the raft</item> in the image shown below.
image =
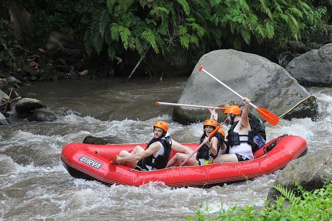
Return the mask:
<svg viewBox="0 0 332 221">
<path fill-rule="evenodd" d="M 225 209 L 248 203 L 264 207 L 277 173 L 209 189 L 172 189 L 161 183 L 106 186 L 75 179 L 62 165 L 60 154 L 67 143 L 82 142 L 89 135 L 114 143 L 147 142 L 156 120 L 169 123 L 175 140 L 197 143 L 201 123 L 173 122 L 172 107 L 155 105 L 177 103 L 186 81 L 68 80 L 17 89 L 22 97 L 41 100 L 54 112 L 66 108 L 81 114 L 59 115 L 55 122 L 9 118 L 10 125 L 0 125 L 0 220 L 179 221 L 194 215 L 200 204 L 210 207 L 210 213 L 221 204 Z M 332 88 L 307 90 L 318 97 L 320 119 L 266 124 L 268 140 L 287 133 L 305 138 L 309 153 L 331 147 Z"/>
</svg>

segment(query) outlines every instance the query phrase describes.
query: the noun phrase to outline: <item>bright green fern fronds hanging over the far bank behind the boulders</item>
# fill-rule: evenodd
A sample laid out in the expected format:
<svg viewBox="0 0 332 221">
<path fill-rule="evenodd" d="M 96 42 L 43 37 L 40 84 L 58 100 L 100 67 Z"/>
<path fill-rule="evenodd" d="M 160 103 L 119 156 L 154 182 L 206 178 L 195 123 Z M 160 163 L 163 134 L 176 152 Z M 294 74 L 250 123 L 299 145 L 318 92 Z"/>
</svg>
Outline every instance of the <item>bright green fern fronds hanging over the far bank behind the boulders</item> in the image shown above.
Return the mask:
<svg viewBox="0 0 332 221">
<path fill-rule="evenodd" d="M 84 35 L 86 51 L 106 46 L 113 59 L 126 50 L 143 55 L 149 47 L 163 54 L 179 43 L 184 49 L 221 47 L 241 50 L 252 41 L 275 47 L 323 33 L 324 7 L 308 0 L 106 0 L 96 8 Z M 307 36 L 307 35 L 306 35 Z"/>
</svg>

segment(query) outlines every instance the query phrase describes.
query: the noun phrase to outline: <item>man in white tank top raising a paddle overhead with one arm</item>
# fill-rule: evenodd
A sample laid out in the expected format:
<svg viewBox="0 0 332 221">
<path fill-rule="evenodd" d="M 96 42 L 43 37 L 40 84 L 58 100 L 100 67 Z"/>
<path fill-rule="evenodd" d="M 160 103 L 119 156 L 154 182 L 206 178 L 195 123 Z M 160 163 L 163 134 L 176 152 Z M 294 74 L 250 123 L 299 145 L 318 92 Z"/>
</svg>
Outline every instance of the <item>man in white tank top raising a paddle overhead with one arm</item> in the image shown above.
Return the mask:
<svg viewBox="0 0 332 221">
<path fill-rule="evenodd" d="M 219 162 L 241 162 L 253 160 L 254 155 L 251 144 L 254 142 L 254 130 L 249 123 L 249 103 L 248 98 L 242 99 L 243 110 L 236 105 L 226 108 L 224 113 L 231 124 L 227 135 L 228 154 L 222 154 L 213 159 L 213 163 Z"/>
</svg>

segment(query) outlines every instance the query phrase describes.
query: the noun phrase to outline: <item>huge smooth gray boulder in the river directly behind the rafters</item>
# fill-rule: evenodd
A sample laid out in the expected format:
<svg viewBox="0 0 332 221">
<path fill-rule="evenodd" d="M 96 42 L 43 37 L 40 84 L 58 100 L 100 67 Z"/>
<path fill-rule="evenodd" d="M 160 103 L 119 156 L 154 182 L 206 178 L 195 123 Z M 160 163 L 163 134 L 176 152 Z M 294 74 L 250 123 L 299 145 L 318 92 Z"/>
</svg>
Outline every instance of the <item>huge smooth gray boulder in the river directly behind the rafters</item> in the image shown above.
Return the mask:
<svg viewBox="0 0 332 221">
<path fill-rule="evenodd" d="M 310 96 L 283 67 L 262 56 L 235 50 L 218 50 L 203 55 L 188 79 L 178 104 L 201 106 L 242 104 L 241 98 L 229 89 L 203 71 L 199 72 L 200 65 L 241 96 L 251 99 L 257 107 L 269 110 L 277 116 L 291 110 L 304 100 L 296 108 L 284 114 L 283 118 L 318 117 L 316 97 Z M 260 117 L 253 108 L 251 112 Z M 187 124 L 203 121 L 209 116 L 208 110 L 176 107 L 172 117 L 174 121 Z M 225 119 L 225 115 L 219 114 L 219 118 Z"/>
</svg>

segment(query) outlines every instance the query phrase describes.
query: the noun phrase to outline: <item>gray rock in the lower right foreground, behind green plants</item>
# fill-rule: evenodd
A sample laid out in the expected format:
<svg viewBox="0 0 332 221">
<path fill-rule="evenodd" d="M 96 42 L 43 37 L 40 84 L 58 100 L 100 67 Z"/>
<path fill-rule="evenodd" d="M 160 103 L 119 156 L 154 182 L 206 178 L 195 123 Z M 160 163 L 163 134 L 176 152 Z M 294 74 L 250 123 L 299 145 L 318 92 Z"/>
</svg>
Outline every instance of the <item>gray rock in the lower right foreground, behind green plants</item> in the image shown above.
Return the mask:
<svg viewBox="0 0 332 221">
<path fill-rule="evenodd" d="M 296 190 L 295 182 L 312 191 L 323 187 L 325 180 L 332 180 L 332 152 L 320 150 L 309 153 L 295 161 L 291 161 L 276 176 L 274 184 L 280 184 L 289 190 Z M 267 199 L 273 203 L 280 193 L 271 188 Z"/>
</svg>

